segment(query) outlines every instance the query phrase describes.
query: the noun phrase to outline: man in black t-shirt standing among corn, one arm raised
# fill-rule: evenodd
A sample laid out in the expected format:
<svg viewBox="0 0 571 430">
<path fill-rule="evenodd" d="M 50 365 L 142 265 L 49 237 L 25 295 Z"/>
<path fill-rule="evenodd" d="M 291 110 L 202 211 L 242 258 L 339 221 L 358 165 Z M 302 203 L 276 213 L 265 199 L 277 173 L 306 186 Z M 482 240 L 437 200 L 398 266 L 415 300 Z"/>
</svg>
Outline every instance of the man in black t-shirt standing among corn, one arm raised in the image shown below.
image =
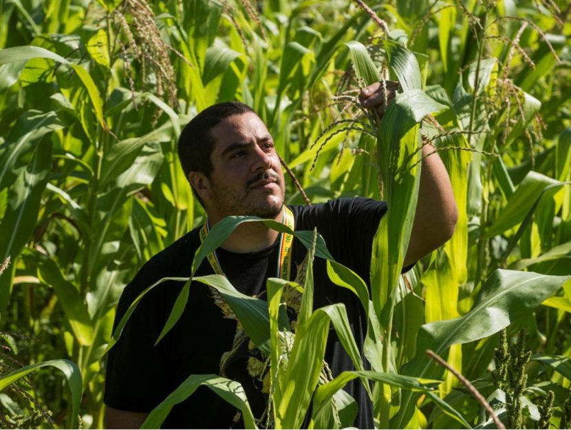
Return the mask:
<svg viewBox="0 0 571 430">
<path fill-rule="evenodd" d="M 382 92 L 379 83 L 366 87 L 360 101 L 382 115 Z M 395 94 L 396 85 L 391 83 L 387 98 L 391 100 Z M 431 150 L 424 147 L 424 155 Z M 241 103 L 222 103 L 205 109 L 182 132 L 179 155 L 193 191 L 206 209 L 208 223 L 144 265 L 122 294 L 116 323 L 151 283 L 162 277 L 188 277 L 193 255 L 200 246 L 200 230 L 206 234 L 210 226 L 228 215 L 271 218 L 292 223 L 296 230 L 316 227 L 335 259 L 369 282 L 372 241 L 386 211 L 385 203 L 358 197 L 314 206 L 284 206 L 279 156 L 266 125 L 252 109 Z M 449 177 L 438 155 L 433 155 L 422 165 L 418 208 L 405 266 L 448 240 L 456 217 Z M 237 290 L 266 299 L 266 279 L 287 272 L 294 279 L 305 257 L 305 248 L 294 241 L 291 252 L 295 264 L 284 271 L 281 239 L 277 231 L 261 223 L 241 224 L 215 252 L 211 259 L 214 262 L 204 259 L 196 275 L 222 273 Z M 329 281 L 321 259 L 314 263 L 314 279 L 314 307 L 344 303 L 356 341 L 362 347 L 367 321 L 358 298 Z M 207 286 L 193 283 L 180 320 L 153 346 L 181 287 L 180 282 L 167 282 L 147 294 L 109 353 L 105 392 L 108 427 L 139 427 L 149 411 L 191 374 L 220 374 L 238 380 L 256 418 L 266 413 L 268 378 L 263 357 L 241 333 L 228 305 Z M 290 318 L 295 319 L 295 303 L 288 303 L 288 307 L 292 311 Z M 334 374 L 352 369 L 333 332 L 325 361 Z M 372 428 L 371 404 L 360 380 L 347 385 L 345 391 L 358 403 L 355 425 Z M 178 428 L 241 425 L 237 409 L 205 387 L 173 408 L 164 422 L 164 427 Z"/>
</svg>

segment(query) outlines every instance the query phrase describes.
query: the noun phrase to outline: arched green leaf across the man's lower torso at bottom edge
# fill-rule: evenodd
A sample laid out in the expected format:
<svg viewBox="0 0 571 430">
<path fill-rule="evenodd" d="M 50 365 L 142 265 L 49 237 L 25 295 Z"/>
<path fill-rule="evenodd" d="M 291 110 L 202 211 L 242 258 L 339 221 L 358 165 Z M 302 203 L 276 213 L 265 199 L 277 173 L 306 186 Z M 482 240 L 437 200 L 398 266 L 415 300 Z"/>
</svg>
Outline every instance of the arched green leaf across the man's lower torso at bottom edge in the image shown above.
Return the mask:
<svg viewBox="0 0 571 430">
<path fill-rule="evenodd" d="M 201 385 L 208 387 L 230 405 L 239 409 L 246 429 L 258 428 L 248 404 L 246 393 L 240 383 L 217 375 L 191 375 L 149 413 L 147 419 L 142 423 L 141 429 L 160 429 L 171 409 L 186 400 Z"/>
</svg>

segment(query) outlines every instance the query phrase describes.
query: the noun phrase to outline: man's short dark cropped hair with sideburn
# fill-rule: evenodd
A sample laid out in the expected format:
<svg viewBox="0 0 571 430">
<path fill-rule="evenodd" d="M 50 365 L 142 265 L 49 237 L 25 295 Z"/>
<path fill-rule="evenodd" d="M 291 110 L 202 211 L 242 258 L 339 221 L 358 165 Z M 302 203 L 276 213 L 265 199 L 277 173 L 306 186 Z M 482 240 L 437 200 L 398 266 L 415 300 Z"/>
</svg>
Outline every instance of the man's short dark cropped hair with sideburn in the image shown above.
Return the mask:
<svg viewBox="0 0 571 430">
<path fill-rule="evenodd" d="M 211 129 L 230 116 L 247 114 L 248 112 L 255 113 L 254 109 L 244 105 L 244 103 L 217 103 L 207 107 L 188 122 L 178 139 L 178 158 L 187 180 L 188 173 L 191 172 L 204 173 L 208 178 L 212 173 L 211 155 L 215 141 L 212 137 Z M 200 200 L 192 185 L 191 188 L 202 204 L 202 200 Z"/>
</svg>

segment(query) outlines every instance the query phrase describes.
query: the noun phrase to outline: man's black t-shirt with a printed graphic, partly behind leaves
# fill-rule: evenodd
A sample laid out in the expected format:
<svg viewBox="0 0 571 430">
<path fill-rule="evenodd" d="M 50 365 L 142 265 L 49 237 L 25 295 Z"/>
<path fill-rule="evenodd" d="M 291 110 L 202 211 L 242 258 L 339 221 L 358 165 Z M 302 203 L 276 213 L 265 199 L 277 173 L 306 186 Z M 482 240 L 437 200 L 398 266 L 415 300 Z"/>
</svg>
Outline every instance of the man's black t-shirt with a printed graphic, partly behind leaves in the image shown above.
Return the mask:
<svg viewBox="0 0 571 430">
<path fill-rule="evenodd" d="M 372 242 L 380 218 L 387 210 L 385 202 L 356 197 L 341 198 L 314 206 L 290 206 L 295 230 L 317 228 L 327 248 L 339 263 L 352 268 L 369 285 Z M 188 277 L 191 262 L 200 246 L 199 230 L 195 229 L 155 255 L 145 264 L 122 293 L 116 321 L 129 305 L 151 283 L 163 277 Z M 237 254 L 222 248 L 217 256 L 230 283 L 240 292 L 266 299 L 266 279 L 275 277 L 279 241 L 265 250 Z M 294 240 L 292 277 L 306 255 L 303 244 Z M 213 270 L 204 259 L 196 276 L 210 275 Z M 154 288 L 131 315 L 120 340 L 109 352 L 105 404 L 126 411 L 149 412 L 191 374 L 219 374 L 222 355 L 233 349 L 237 330 L 234 319 L 224 318 L 215 304 L 211 290 L 194 282 L 188 303 L 180 320 L 156 347 L 157 340 L 182 282 L 166 281 Z M 363 347 L 367 319 L 358 297 L 327 277 L 325 260 L 314 261 L 314 309 L 332 303 L 344 303 L 357 345 Z M 246 341 L 245 344 L 248 342 Z M 361 351 L 362 352 L 362 351 Z M 266 407 L 263 382 L 252 378 L 248 364 L 248 348 L 242 347 L 225 365 L 228 378 L 244 386 L 254 415 L 259 418 Z M 325 352 L 332 374 L 353 369 L 352 362 L 330 329 Z M 373 428 L 371 402 L 360 380 L 353 380 L 345 391 L 357 402 L 359 413 L 356 427 Z M 163 423 L 164 428 L 230 428 L 243 425 L 234 422 L 237 409 L 219 398 L 210 389 L 200 387 L 186 401 L 175 406 Z"/>
</svg>

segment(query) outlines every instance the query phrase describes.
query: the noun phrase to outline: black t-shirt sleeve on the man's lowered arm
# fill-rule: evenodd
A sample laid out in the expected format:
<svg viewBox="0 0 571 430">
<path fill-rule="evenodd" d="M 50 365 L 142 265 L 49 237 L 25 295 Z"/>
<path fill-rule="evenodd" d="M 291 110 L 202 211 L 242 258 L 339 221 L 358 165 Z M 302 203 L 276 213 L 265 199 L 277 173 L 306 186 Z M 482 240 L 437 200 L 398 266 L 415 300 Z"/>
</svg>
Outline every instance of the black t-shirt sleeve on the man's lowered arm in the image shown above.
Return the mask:
<svg viewBox="0 0 571 430">
<path fill-rule="evenodd" d="M 151 282 L 152 274 L 144 267 L 125 288 L 118 303 L 114 331 L 131 303 Z M 160 314 L 163 296 L 159 286 L 141 299 L 118 343 L 109 351 L 105 405 L 125 411 L 149 412 L 169 394 L 166 387 L 169 380 L 167 339 L 154 345 L 164 325 L 164 316 Z"/>
</svg>

